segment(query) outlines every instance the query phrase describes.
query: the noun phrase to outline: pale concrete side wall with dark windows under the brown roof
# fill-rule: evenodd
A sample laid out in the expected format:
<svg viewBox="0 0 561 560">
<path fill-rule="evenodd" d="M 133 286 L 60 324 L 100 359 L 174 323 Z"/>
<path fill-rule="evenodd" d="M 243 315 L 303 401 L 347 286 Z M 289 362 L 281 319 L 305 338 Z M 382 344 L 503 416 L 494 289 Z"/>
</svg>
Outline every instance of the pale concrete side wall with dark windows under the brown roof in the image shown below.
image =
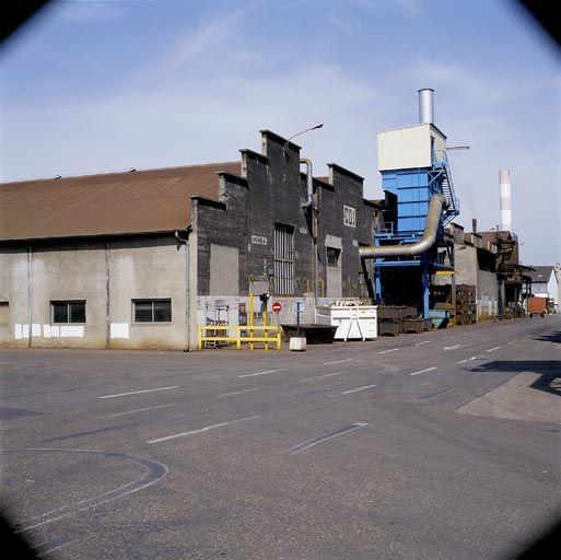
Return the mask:
<svg viewBox="0 0 561 560">
<path fill-rule="evenodd" d="M 28 261 L 27 247 L 0 249 L 0 301 L 10 304 L 0 345 L 185 348 L 185 247 L 173 235 L 36 243 Z M 135 323 L 133 299 L 167 298 L 171 323 Z M 50 302 L 68 300 L 85 301 L 84 324 L 52 324 Z"/>
</svg>

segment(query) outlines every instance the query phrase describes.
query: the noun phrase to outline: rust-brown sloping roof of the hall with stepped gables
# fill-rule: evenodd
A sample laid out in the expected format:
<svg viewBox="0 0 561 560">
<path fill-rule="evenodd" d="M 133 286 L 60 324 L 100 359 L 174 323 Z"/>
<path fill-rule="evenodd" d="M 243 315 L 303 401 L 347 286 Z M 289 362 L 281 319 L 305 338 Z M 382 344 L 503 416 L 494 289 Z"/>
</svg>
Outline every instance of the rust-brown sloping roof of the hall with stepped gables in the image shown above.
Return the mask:
<svg viewBox="0 0 561 560">
<path fill-rule="evenodd" d="M 0 185 L 0 241 L 185 229 L 191 196 L 218 200 L 217 173 L 239 162 Z"/>
</svg>

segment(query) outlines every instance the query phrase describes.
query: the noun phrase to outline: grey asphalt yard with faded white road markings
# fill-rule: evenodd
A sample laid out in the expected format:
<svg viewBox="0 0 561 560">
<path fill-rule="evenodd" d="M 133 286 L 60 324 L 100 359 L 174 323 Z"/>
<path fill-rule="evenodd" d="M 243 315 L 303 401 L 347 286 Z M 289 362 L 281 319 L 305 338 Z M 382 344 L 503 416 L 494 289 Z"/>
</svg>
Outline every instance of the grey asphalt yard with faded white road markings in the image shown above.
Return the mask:
<svg viewBox="0 0 561 560">
<path fill-rule="evenodd" d="M 560 513 L 559 316 L 0 360 L 2 502 L 46 558 L 506 559 Z"/>
</svg>

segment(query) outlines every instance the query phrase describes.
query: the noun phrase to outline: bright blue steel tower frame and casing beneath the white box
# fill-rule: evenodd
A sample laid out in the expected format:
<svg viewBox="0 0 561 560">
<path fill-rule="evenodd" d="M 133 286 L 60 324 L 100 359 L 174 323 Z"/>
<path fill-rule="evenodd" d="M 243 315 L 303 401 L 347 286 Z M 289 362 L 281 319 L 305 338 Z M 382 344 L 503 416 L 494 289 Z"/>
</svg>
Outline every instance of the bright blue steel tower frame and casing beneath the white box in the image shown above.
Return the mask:
<svg viewBox="0 0 561 560">
<path fill-rule="evenodd" d="M 429 200 L 433 195 L 443 195 L 448 206 L 443 211 L 436 235 L 435 246 L 442 246 L 444 226 L 459 214 L 459 201 L 445 151 L 432 153 L 430 167 L 412 170 L 382 171 L 382 188 L 397 196 L 397 223 L 381 229 L 374 236 L 375 245 L 401 245 L 416 243 L 422 237 Z M 433 247 L 434 249 L 434 247 Z M 430 271 L 446 268 L 437 260 L 436 250 L 428 250 L 412 258 L 375 259 L 376 303 L 382 303 L 381 270 L 385 267 L 419 267 L 421 269 L 423 291 L 423 317 L 429 318 Z"/>
</svg>

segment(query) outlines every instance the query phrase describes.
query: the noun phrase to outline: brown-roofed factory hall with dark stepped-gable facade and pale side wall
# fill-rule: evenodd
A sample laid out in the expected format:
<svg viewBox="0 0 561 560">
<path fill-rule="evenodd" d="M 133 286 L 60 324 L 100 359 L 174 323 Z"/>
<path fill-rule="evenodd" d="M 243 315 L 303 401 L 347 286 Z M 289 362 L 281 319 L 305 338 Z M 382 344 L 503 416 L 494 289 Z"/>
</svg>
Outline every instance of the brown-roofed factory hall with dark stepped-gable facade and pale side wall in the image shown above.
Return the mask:
<svg viewBox="0 0 561 560">
<path fill-rule="evenodd" d="M 283 303 L 281 323 L 296 296 L 314 322 L 316 304 L 372 294 L 363 178 L 334 163 L 312 179 L 300 147 L 268 130 L 261 147 L 0 185 L 0 343 L 192 349 L 198 325 L 243 324 L 249 293 Z"/>
</svg>

